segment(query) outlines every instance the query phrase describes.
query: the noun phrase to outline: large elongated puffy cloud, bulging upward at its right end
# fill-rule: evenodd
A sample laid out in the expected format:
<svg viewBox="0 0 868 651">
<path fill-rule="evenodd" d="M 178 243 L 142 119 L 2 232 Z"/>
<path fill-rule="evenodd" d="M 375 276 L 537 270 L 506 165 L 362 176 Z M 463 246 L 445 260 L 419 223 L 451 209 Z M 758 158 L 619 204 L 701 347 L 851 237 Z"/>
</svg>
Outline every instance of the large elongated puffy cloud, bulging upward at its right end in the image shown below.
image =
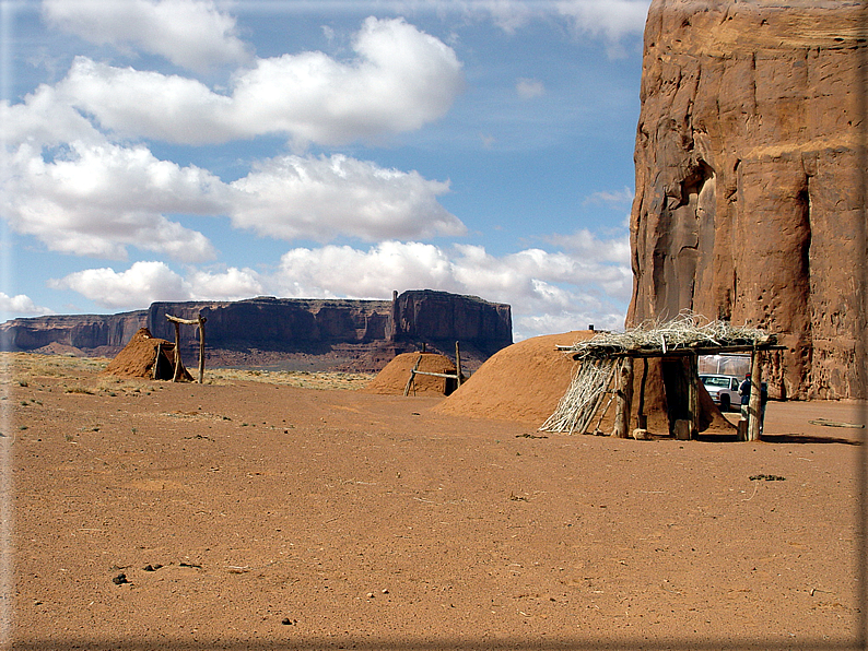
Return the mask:
<svg viewBox="0 0 868 651">
<path fill-rule="evenodd" d="M 124 137 L 203 144 L 279 133 L 300 145 L 336 145 L 419 129 L 464 90 L 453 49 L 403 20 L 367 19 L 353 49 L 349 62 L 316 51 L 258 59 L 236 73 L 227 95 L 78 57 L 58 93 Z"/>
</svg>

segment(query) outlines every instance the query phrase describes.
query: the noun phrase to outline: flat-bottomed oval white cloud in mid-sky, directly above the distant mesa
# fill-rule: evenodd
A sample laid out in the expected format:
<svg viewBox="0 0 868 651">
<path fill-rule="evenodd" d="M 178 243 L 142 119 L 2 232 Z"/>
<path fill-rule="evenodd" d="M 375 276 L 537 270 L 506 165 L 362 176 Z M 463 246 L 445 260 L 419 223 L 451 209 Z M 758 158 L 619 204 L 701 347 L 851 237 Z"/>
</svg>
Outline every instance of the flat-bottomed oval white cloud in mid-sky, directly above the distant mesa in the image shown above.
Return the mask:
<svg viewBox="0 0 868 651">
<path fill-rule="evenodd" d="M 273 158 L 232 187 L 233 223 L 270 237 L 376 240 L 466 230 L 437 203 L 448 184 L 343 155 Z"/>
</svg>

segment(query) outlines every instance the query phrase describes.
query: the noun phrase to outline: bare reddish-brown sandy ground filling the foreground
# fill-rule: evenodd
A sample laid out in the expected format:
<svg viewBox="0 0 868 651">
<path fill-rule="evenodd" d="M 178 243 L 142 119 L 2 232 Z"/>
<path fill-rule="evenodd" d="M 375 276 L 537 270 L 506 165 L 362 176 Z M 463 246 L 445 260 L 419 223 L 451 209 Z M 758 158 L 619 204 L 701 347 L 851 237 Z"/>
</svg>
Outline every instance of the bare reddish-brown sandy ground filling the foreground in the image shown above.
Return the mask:
<svg viewBox="0 0 868 651">
<path fill-rule="evenodd" d="M 437 398 L 52 372 L 5 386 L 8 648 L 855 638 L 863 430 L 809 421 L 856 403 L 772 403 L 761 442 L 634 441 Z"/>
</svg>

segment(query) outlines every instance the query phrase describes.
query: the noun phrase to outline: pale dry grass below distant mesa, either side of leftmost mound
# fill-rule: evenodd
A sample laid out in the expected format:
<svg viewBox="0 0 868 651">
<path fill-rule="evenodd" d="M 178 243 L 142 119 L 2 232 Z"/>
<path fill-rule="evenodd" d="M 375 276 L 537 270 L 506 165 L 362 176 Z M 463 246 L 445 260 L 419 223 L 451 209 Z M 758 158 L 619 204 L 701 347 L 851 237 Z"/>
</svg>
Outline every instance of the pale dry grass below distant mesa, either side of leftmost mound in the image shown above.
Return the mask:
<svg viewBox="0 0 868 651">
<path fill-rule="evenodd" d="M 99 376 L 112 362 L 106 357 L 73 357 L 68 355 L 37 355 L 34 353 L 0 353 L 0 376 L 4 384 L 26 387 L 34 378 L 68 379 L 68 393 L 109 394 L 148 393 L 163 382 L 145 379 Z M 375 374 L 337 371 L 271 371 L 254 369 L 206 369 L 209 384 L 231 384 L 235 381 L 256 381 L 288 384 L 305 389 L 362 389 Z M 74 380 L 74 382 L 73 382 Z"/>
</svg>

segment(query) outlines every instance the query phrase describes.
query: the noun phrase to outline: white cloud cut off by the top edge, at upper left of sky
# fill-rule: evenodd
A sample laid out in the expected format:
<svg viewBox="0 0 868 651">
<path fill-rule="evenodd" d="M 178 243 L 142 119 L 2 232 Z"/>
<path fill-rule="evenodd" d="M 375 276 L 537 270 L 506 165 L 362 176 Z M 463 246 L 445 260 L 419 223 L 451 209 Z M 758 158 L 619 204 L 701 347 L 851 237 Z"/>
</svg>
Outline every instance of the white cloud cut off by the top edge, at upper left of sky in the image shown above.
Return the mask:
<svg viewBox="0 0 868 651">
<path fill-rule="evenodd" d="M 191 70 L 250 57 L 235 19 L 212 0 L 43 0 L 43 15 L 87 42 L 132 46 Z"/>
</svg>

